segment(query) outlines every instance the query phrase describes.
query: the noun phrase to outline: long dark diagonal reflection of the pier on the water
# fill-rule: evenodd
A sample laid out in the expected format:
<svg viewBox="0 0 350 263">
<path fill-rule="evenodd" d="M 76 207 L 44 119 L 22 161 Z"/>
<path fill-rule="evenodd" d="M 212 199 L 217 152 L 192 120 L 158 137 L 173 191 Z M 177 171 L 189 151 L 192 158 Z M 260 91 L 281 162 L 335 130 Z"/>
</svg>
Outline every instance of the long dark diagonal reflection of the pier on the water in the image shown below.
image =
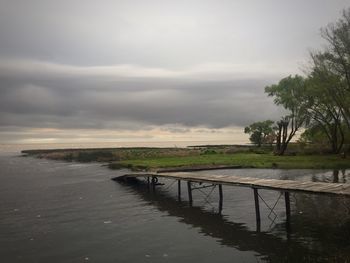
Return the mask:
<svg viewBox="0 0 350 263">
<path fill-rule="evenodd" d="M 227 216 L 206 211 L 203 207 L 190 207 L 187 202 L 178 202 L 161 189 L 153 192 L 145 186 L 131 187 L 135 194 L 154 204 L 160 211 L 180 218 L 181 223 L 191 225 L 199 233 L 215 238 L 221 245 L 240 251 L 255 251 L 261 255 L 261 259 L 300 261 L 310 257 L 310 251 L 293 240 L 285 240 L 270 233 L 257 233 L 243 223 L 229 221 Z"/>
</svg>

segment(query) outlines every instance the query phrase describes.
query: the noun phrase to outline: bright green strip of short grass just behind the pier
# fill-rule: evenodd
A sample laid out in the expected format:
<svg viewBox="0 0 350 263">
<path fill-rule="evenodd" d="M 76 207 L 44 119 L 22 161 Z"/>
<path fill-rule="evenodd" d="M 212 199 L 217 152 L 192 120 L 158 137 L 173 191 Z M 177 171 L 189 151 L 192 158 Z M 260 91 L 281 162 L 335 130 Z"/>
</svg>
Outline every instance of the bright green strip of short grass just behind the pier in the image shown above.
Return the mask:
<svg viewBox="0 0 350 263">
<path fill-rule="evenodd" d="M 153 170 L 199 165 L 239 165 L 243 167 L 283 169 L 344 169 L 350 168 L 350 160 L 341 159 L 336 155 L 275 156 L 273 154 L 236 153 L 132 159 L 120 161 L 117 164 L 112 163 L 110 167 Z"/>
</svg>

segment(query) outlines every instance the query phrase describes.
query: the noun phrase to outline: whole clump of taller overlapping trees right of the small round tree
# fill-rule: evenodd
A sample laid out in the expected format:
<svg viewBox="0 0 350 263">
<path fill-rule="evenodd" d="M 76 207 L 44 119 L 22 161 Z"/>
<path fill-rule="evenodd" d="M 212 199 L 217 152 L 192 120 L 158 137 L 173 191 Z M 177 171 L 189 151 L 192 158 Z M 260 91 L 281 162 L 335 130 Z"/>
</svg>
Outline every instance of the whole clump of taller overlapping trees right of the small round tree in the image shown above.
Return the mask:
<svg viewBox="0 0 350 263">
<path fill-rule="evenodd" d="M 307 131 L 300 142 L 327 142 L 339 153 L 350 130 L 350 8 L 321 30 L 327 46 L 312 52 L 306 78 L 295 75 L 267 86 L 274 103 L 289 111 L 277 122 L 276 152 L 283 155 L 296 131 Z"/>
</svg>

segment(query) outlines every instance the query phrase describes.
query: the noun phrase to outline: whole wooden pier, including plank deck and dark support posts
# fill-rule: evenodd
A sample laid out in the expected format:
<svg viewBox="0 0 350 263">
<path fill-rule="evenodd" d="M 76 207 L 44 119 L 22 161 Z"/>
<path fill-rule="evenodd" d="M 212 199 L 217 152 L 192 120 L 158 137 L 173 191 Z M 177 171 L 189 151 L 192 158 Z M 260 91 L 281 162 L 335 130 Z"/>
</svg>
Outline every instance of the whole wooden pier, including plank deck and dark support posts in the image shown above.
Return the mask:
<svg viewBox="0 0 350 263">
<path fill-rule="evenodd" d="M 196 174 L 196 173 L 133 173 L 125 174 L 113 178 L 116 181 L 133 181 L 136 178 L 146 178 L 149 186 L 155 189 L 156 185 L 159 185 L 158 178 L 174 179 L 178 182 L 178 197 L 181 199 L 181 181 L 187 182 L 188 200 L 192 205 L 192 191 L 194 188 L 192 183 L 207 183 L 219 188 L 219 211 L 221 213 L 223 207 L 223 191 L 222 185 L 241 186 L 249 187 L 253 189 L 255 212 L 256 212 L 256 223 L 257 229 L 260 229 L 260 207 L 259 207 L 259 189 L 275 190 L 284 193 L 285 208 L 287 225 L 290 222 L 290 197 L 289 193 L 299 192 L 308 194 L 323 194 L 332 196 L 344 196 L 350 197 L 350 184 L 341 183 L 323 183 L 323 182 L 302 182 L 292 180 L 277 180 L 277 179 L 259 179 L 252 177 L 239 177 L 232 175 L 208 175 L 208 174 Z M 201 186 L 200 188 L 207 187 Z"/>
</svg>

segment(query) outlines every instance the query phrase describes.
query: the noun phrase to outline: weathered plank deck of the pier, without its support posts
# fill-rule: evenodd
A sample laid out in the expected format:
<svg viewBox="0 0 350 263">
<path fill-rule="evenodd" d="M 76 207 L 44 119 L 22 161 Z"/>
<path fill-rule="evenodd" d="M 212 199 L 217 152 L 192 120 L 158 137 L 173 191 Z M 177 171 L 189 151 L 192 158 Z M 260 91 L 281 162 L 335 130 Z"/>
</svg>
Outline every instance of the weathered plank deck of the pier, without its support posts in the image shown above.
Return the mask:
<svg viewBox="0 0 350 263">
<path fill-rule="evenodd" d="M 253 177 L 239 177 L 229 175 L 207 175 L 195 173 L 134 173 L 118 177 L 163 177 L 191 182 L 214 183 L 220 185 L 233 185 L 251 187 L 257 189 L 271 189 L 289 192 L 319 193 L 331 195 L 350 196 L 350 184 L 323 183 L 323 182 L 301 182 L 292 180 L 260 179 Z M 118 180 L 118 178 L 114 178 Z"/>
</svg>

